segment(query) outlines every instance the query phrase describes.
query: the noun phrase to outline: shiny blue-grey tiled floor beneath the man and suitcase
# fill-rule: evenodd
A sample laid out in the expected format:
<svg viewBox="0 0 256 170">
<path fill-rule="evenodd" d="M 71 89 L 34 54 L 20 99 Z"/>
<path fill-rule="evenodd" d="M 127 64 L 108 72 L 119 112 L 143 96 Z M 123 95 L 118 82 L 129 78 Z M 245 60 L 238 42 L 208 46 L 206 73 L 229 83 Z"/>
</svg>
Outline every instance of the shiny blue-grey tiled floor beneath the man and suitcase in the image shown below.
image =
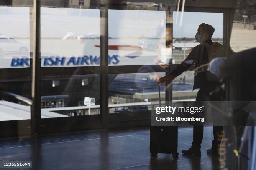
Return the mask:
<svg viewBox="0 0 256 170">
<path fill-rule="evenodd" d="M 206 155 L 212 127 L 205 127 L 202 157 L 185 156 L 192 128 L 179 128 L 179 159 L 171 154 L 150 158 L 149 128 L 100 130 L 47 135 L 34 140 L 0 140 L 0 160 L 32 161 L 33 168 L 15 170 L 215 170 L 217 158 Z M 3 168 L 11 170 L 12 168 Z"/>
</svg>

